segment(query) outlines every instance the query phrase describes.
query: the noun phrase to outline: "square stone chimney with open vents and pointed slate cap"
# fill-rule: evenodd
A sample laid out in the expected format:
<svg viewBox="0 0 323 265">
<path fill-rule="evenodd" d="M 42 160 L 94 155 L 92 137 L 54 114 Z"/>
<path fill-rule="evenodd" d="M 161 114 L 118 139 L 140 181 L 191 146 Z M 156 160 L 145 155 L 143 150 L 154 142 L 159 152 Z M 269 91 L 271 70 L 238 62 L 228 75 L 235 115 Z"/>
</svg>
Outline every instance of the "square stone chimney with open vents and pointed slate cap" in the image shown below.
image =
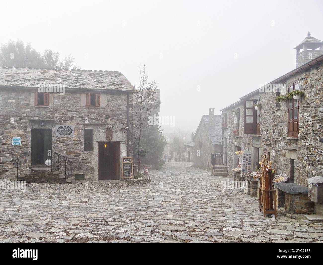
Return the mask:
<svg viewBox="0 0 323 265">
<path fill-rule="evenodd" d="M 323 54 L 323 41 L 311 37 L 308 31 L 307 37 L 294 49 L 296 50 L 296 67 L 300 67 Z"/>
</svg>

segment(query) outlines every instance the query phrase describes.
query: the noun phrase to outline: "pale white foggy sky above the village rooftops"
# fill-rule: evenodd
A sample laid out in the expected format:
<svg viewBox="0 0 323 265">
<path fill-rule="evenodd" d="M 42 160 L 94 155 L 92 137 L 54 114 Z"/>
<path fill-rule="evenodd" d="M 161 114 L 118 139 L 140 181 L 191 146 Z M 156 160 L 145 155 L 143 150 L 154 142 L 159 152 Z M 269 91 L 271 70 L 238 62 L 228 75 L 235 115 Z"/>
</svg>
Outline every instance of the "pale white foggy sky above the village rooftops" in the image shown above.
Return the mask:
<svg viewBox="0 0 323 265">
<path fill-rule="evenodd" d="M 139 64 L 161 89 L 160 115 L 196 130 L 220 109 L 293 70 L 307 35 L 323 40 L 323 1 L 1 1 L 0 43 L 71 53 L 86 70 Z M 234 56 L 237 56 L 237 59 Z M 197 91 L 197 88 L 200 91 Z"/>
</svg>

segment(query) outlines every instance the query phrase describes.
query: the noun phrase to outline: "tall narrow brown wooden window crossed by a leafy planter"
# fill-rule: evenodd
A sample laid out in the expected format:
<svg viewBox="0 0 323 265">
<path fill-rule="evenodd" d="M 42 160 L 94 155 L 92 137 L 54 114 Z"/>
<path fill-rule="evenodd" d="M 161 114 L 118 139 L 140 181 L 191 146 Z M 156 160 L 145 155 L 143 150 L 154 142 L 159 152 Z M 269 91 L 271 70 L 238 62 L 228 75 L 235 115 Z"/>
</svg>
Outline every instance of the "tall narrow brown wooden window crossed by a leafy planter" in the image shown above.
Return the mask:
<svg viewBox="0 0 323 265">
<path fill-rule="evenodd" d="M 291 92 L 293 90 L 298 90 L 298 82 L 291 83 L 288 85 L 288 92 Z M 298 105 L 299 101 L 298 99 L 288 99 L 288 124 L 287 124 L 287 137 L 298 137 Z"/>
</svg>

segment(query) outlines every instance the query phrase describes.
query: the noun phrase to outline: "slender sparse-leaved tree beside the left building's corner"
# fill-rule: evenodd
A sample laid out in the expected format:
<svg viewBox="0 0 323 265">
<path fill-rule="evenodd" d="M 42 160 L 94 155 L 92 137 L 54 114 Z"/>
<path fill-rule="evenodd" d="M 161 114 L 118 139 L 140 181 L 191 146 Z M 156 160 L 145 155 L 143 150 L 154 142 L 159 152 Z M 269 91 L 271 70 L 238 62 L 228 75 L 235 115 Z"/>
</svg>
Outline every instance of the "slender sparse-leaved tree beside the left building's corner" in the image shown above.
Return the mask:
<svg viewBox="0 0 323 265">
<path fill-rule="evenodd" d="M 156 100 L 155 98 L 157 82 L 148 82 L 145 65 L 143 65 L 143 69 L 141 69 L 141 65 L 139 66 L 139 72 L 140 78 L 139 85 L 137 87 L 137 94 L 134 94 L 139 107 L 138 122 L 134 124 L 134 127 L 136 128 L 134 130 L 134 134 L 137 141 L 134 151 L 138 154 L 138 176 L 140 174 L 140 159 L 145 153 L 145 149 L 142 148 L 140 141 L 142 131 L 148 127 L 148 118 L 151 116 L 152 111 L 160 105 L 160 100 Z"/>
</svg>

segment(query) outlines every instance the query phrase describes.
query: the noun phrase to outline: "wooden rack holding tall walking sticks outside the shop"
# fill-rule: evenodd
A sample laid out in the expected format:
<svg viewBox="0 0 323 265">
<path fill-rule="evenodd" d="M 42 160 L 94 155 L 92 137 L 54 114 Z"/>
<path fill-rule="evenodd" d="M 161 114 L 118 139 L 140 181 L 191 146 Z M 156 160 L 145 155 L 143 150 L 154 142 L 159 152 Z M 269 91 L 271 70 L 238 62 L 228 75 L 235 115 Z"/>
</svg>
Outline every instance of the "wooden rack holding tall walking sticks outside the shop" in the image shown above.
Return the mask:
<svg viewBox="0 0 323 265">
<path fill-rule="evenodd" d="M 258 188 L 259 194 L 259 212 L 264 213 L 264 217 L 267 214 L 274 214 L 277 216 L 276 209 L 276 190 L 273 189 L 273 176 L 271 173 L 271 164 L 273 162 L 268 161 L 267 155 L 261 156 L 261 162 L 259 165 L 261 167 L 261 177 L 260 177 L 260 185 Z M 274 207 L 273 207 L 274 201 Z"/>
</svg>

